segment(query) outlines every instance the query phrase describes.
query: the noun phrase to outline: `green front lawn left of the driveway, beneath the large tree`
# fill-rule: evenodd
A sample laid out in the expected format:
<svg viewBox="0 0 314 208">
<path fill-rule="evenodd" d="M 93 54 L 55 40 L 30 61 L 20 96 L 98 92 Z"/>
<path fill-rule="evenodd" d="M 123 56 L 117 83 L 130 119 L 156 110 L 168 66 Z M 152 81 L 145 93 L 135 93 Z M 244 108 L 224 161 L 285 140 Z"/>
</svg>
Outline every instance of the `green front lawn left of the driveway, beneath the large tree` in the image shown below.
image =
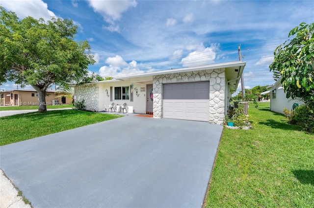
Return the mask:
<svg viewBox="0 0 314 208">
<path fill-rule="evenodd" d="M 32 139 L 120 116 L 77 110 L 48 111 L 0 117 L 0 145 Z"/>
</svg>

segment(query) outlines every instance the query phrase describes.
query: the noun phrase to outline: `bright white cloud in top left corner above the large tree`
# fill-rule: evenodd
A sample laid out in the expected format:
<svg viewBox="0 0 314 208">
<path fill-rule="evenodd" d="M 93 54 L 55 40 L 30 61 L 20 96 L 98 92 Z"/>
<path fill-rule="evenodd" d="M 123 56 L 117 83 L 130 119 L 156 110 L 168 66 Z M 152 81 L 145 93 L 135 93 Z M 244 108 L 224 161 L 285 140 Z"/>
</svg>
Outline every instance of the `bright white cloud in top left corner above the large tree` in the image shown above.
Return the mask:
<svg viewBox="0 0 314 208">
<path fill-rule="evenodd" d="M 48 21 L 51 20 L 51 17 L 56 16 L 48 9 L 47 3 L 42 0 L 1 0 L 1 6 L 15 12 L 20 19 L 31 16 Z"/>
</svg>

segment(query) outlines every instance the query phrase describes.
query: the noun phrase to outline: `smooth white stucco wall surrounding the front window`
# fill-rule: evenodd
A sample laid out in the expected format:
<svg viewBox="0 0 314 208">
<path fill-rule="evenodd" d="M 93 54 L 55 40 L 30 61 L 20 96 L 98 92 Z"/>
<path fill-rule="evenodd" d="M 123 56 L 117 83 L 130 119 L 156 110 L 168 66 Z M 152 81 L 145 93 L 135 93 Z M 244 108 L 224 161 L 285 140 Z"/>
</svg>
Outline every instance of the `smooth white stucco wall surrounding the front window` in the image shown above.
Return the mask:
<svg viewBox="0 0 314 208">
<path fill-rule="evenodd" d="M 133 84 L 133 102 L 130 100 L 115 100 L 114 99 L 114 87 L 125 87 Z M 110 87 L 112 87 L 112 101 L 110 101 Z M 135 89 L 137 88 L 137 95 Z M 145 88 L 145 92 L 141 92 L 141 88 Z M 130 81 L 118 81 L 108 82 L 99 84 L 99 110 L 104 111 L 105 108 L 108 110 L 108 106 L 111 103 L 123 105 L 127 103 L 131 108 L 129 112 L 133 110 L 135 113 L 145 114 L 146 113 L 146 84 L 132 83 Z M 130 89 L 131 92 L 131 89 Z"/>
</svg>

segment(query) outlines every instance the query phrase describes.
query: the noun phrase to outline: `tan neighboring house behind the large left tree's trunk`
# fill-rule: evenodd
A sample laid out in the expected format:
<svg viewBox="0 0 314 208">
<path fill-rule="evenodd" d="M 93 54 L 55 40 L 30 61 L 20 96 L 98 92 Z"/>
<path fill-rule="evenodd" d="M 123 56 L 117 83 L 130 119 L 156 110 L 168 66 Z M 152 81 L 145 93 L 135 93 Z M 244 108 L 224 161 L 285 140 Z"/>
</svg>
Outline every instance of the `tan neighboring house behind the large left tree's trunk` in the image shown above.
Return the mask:
<svg viewBox="0 0 314 208">
<path fill-rule="evenodd" d="M 38 93 L 34 89 L 21 89 L 0 92 L 1 106 L 21 106 L 21 105 L 38 105 Z M 55 97 L 54 90 L 47 90 L 46 104 L 54 105 L 57 103 L 71 104 L 72 99 L 68 97 Z"/>
</svg>

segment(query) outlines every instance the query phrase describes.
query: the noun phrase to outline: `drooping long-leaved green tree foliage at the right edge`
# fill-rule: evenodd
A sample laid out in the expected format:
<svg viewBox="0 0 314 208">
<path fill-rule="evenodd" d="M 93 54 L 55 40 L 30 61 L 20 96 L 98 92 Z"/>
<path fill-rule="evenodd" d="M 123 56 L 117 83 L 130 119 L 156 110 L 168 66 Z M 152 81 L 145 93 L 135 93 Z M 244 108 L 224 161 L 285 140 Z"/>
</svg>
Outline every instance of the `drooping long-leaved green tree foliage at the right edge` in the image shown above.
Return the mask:
<svg viewBox="0 0 314 208">
<path fill-rule="evenodd" d="M 274 51 L 274 61 L 269 66 L 275 80 L 281 83 L 287 98 L 301 98 L 314 109 L 314 23 L 301 23 L 293 28 L 287 40 Z"/>
</svg>

